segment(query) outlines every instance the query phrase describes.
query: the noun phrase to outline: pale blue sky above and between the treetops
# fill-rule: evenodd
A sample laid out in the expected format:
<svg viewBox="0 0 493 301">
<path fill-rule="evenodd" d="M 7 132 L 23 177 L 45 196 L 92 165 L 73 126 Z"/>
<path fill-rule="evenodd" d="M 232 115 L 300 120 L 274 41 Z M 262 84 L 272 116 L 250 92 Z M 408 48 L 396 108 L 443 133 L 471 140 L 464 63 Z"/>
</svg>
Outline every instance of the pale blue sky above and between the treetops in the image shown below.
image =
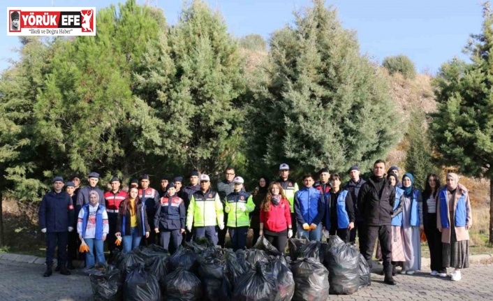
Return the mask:
<svg viewBox="0 0 493 301">
<path fill-rule="evenodd" d="M 420 73 L 436 73 L 441 64 L 457 56 L 466 59 L 462 48 L 470 34 L 481 31 L 483 0 L 328 0 L 337 8 L 346 29 L 358 34 L 360 52 L 381 62 L 390 55 L 405 54 Z M 19 39 L 7 36 L 7 7 L 96 6 L 116 4 L 115 0 L 7 0 L 0 15 L 0 71 L 17 59 Z M 153 0 L 163 8 L 168 24 L 175 24 L 182 0 Z M 218 9 L 234 36 L 260 34 L 268 39 L 276 29 L 294 20 L 293 11 L 310 6 L 310 0 L 207 0 Z M 143 0 L 138 0 L 143 3 Z M 97 27 L 97 23 L 96 23 Z"/>
</svg>

